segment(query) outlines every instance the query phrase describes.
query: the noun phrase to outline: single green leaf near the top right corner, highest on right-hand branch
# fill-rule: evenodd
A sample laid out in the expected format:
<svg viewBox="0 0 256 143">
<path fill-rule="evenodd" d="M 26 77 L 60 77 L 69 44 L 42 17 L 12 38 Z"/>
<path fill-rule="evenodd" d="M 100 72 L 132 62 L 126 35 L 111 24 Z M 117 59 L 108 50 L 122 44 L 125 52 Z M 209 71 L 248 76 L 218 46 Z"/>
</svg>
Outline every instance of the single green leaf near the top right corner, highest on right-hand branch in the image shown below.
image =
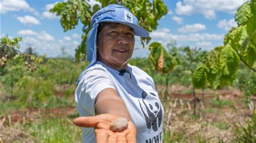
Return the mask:
<svg viewBox="0 0 256 143">
<path fill-rule="evenodd" d="M 235 13 L 234 19 L 238 26 L 245 25 L 247 20 L 251 17 L 251 2 L 246 2 L 242 4 L 237 13 Z"/>
</svg>

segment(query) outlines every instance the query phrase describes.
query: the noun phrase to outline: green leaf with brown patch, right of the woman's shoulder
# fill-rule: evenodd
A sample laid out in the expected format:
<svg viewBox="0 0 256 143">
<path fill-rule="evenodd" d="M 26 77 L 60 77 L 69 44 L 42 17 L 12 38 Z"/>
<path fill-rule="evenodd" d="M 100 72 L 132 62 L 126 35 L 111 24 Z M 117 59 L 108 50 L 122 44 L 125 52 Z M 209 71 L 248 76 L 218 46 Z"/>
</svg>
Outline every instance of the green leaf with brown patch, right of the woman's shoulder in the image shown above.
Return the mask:
<svg viewBox="0 0 256 143">
<path fill-rule="evenodd" d="M 149 59 L 157 71 L 168 73 L 177 65 L 177 61 L 158 42 L 150 44 L 150 51 Z"/>
</svg>

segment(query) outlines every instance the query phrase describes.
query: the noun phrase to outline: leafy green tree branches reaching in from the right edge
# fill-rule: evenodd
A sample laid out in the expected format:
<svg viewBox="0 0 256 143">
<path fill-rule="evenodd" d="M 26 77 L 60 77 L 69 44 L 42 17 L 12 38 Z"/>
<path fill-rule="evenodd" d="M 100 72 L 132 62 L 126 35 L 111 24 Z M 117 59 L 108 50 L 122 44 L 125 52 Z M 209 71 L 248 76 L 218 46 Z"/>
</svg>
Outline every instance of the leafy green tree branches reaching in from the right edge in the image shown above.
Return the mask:
<svg viewBox="0 0 256 143">
<path fill-rule="evenodd" d="M 216 89 L 230 85 L 240 66 L 240 61 L 256 72 L 256 0 L 242 4 L 232 27 L 224 38 L 224 46 L 215 47 L 207 54 L 206 61 L 193 74 L 193 85 L 203 88 L 206 84 Z"/>
</svg>

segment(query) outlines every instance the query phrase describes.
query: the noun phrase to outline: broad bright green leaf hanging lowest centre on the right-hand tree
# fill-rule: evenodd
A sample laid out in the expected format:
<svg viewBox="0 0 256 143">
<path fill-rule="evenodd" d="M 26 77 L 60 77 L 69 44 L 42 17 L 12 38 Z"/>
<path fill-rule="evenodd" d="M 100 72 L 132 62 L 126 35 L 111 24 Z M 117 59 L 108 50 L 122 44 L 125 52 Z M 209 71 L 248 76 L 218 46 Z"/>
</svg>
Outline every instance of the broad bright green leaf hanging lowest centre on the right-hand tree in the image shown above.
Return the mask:
<svg viewBox="0 0 256 143">
<path fill-rule="evenodd" d="M 240 65 L 240 58 L 237 52 L 228 44 L 220 53 L 220 70 L 224 75 L 230 75 L 237 71 Z"/>
</svg>

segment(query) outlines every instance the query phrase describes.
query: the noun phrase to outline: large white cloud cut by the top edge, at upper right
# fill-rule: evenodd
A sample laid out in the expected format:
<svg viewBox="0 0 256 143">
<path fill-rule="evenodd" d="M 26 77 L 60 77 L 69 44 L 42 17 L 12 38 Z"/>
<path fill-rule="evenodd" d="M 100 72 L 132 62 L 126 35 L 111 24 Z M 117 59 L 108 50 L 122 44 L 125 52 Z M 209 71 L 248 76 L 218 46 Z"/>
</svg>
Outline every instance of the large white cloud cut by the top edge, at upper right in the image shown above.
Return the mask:
<svg viewBox="0 0 256 143">
<path fill-rule="evenodd" d="M 183 4 L 176 3 L 176 13 L 178 15 L 191 15 L 201 13 L 207 19 L 215 19 L 216 12 L 222 11 L 234 14 L 242 3 L 248 0 L 223 1 L 223 0 L 184 0 Z"/>
</svg>

